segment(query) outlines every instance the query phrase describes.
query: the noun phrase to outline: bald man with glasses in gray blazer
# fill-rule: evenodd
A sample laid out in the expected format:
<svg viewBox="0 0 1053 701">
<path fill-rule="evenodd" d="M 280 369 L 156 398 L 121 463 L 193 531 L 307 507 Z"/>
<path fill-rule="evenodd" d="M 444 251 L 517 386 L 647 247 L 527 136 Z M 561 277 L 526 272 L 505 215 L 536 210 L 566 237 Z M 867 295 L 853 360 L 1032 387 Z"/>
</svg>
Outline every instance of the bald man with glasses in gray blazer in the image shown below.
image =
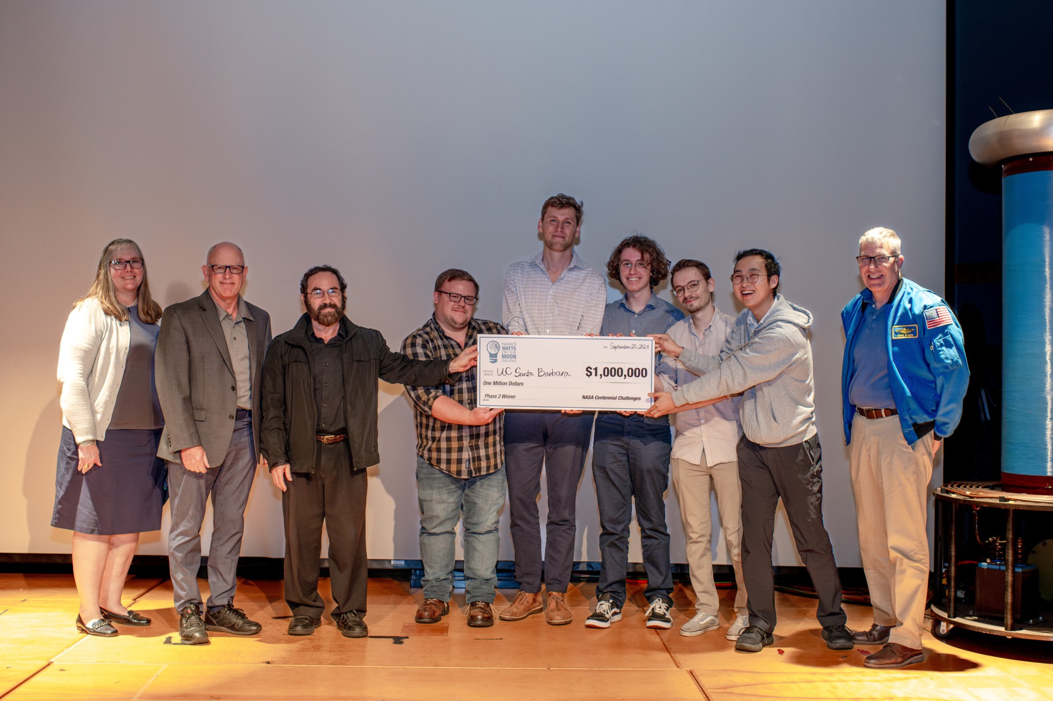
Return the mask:
<svg viewBox="0 0 1053 701">
<path fill-rule="evenodd" d="M 201 266 L 208 289 L 164 310 L 157 339 L 157 395 L 164 413 L 158 455 L 168 465 L 172 528 L 168 566 L 183 644 L 208 642 L 206 631 L 255 635 L 260 624 L 234 607 L 245 503 L 259 455 L 260 373 L 271 317 L 241 297 L 245 259 L 232 243 L 208 249 Z M 207 606 L 197 572 L 210 495 Z M 202 619 L 203 614 L 203 619 Z"/>
</svg>

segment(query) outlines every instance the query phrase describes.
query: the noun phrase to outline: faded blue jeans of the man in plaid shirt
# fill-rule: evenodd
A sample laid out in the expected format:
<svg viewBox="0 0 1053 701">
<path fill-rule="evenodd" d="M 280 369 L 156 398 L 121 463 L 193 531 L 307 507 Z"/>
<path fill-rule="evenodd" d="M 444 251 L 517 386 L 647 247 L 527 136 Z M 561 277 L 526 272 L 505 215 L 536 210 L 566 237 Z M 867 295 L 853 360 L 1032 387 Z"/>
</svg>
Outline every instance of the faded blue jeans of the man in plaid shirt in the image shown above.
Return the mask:
<svg viewBox="0 0 1053 701">
<path fill-rule="evenodd" d="M 461 479 L 417 456 L 420 559 L 424 598 L 450 600 L 454 587 L 457 521 L 464 516 L 465 601 L 494 602 L 497 587 L 498 511 L 504 503 L 504 468 Z"/>
</svg>

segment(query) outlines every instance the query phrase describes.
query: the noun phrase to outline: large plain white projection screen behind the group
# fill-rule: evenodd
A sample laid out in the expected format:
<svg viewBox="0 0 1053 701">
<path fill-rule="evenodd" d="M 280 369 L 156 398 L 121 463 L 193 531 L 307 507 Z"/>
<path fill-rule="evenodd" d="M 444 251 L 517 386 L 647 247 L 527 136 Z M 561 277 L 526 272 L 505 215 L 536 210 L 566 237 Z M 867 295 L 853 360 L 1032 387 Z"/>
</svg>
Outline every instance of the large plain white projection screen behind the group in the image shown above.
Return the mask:
<svg viewBox="0 0 1053 701">
<path fill-rule="evenodd" d="M 142 246 L 162 305 L 201 292 L 210 245 L 240 244 L 276 333 L 301 313 L 302 272 L 334 265 L 349 315 L 397 348 L 444 268 L 471 271 L 477 315 L 499 319 L 505 266 L 540 250 L 540 205 L 567 192 L 584 201 L 585 260 L 643 232 L 709 263 L 730 313 L 735 251 L 780 259 L 781 291 L 815 315 L 826 522 L 838 564 L 859 566 L 839 311 L 878 225 L 942 291 L 945 22 L 938 0 L 0 1 L 0 553 L 69 552 L 49 525 L 56 363 L 110 240 Z M 379 427 L 369 554 L 417 559 L 401 387 L 380 383 Z M 167 509 L 139 553 L 165 554 L 166 535 Z M 577 537 L 575 559 L 598 561 L 590 470 Z M 259 475 L 242 555 L 283 552 Z M 784 517 L 774 559 L 800 562 Z"/>
</svg>

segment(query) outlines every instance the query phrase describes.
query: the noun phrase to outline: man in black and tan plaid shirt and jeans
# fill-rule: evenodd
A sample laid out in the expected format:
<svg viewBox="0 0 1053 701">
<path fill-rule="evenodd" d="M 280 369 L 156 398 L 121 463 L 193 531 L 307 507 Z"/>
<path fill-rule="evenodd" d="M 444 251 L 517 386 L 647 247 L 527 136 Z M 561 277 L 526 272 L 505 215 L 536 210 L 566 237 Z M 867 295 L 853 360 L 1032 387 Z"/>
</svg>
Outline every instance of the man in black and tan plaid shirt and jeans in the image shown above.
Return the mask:
<svg viewBox="0 0 1053 701">
<path fill-rule="evenodd" d="M 439 274 L 432 318 L 402 342 L 419 360 L 453 358 L 475 346 L 480 333 L 505 333 L 476 319 L 479 284 L 464 270 Z M 498 511 L 504 503 L 502 409 L 476 406 L 478 372 L 461 373 L 440 387 L 408 387 L 417 427 L 417 499 L 424 600 L 414 617 L 437 623 L 450 612 L 457 521 L 464 516 L 464 579 L 468 624 L 494 624 L 497 589 Z"/>
</svg>

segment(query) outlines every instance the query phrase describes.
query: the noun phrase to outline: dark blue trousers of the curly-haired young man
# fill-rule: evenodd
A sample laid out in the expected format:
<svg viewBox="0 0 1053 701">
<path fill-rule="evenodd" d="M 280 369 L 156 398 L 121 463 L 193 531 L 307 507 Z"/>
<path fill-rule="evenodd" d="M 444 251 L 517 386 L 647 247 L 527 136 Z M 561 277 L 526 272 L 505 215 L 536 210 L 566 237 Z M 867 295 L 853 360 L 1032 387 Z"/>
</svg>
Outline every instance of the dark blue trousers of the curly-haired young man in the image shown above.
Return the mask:
<svg viewBox="0 0 1053 701">
<path fill-rule="evenodd" d="M 673 575 L 665 528 L 665 490 L 673 438 L 669 419 L 622 416 L 610 412 L 596 418 L 593 439 L 593 479 L 599 507 L 599 582 L 597 595 L 607 595 L 620 609 L 625 603 L 629 569 L 629 528 L 636 501 L 643 569 L 650 601 L 671 602 Z"/>
</svg>

